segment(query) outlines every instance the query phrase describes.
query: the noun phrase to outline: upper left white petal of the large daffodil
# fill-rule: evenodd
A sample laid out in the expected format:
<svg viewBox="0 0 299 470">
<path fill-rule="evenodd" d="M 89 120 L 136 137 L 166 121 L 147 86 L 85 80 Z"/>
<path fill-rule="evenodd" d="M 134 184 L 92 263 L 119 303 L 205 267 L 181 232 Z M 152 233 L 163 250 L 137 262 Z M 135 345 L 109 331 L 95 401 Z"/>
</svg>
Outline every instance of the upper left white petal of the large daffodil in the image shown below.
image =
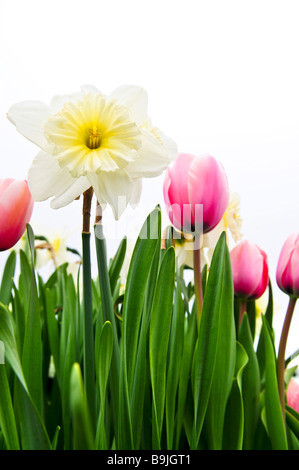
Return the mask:
<svg viewBox="0 0 299 470">
<path fill-rule="evenodd" d="M 10 107 L 7 117 L 28 140 L 48 151 L 44 125 L 51 115 L 51 108 L 40 101 L 23 101 Z"/>
</svg>

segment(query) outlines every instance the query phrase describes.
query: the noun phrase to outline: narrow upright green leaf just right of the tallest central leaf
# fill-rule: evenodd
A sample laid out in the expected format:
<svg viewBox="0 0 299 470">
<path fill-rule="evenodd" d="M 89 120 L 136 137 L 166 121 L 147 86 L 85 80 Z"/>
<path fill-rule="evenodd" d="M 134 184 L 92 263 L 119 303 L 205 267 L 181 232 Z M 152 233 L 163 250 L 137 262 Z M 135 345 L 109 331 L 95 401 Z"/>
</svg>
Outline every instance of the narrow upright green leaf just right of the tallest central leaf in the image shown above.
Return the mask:
<svg viewBox="0 0 299 470">
<path fill-rule="evenodd" d="M 160 449 L 165 405 L 166 360 L 173 310 L 175 275 L 174 248 L 167 249 L 159 272 L 153 300 L 149 353 L 153 390 L 153 448 Z"/>
</svg>

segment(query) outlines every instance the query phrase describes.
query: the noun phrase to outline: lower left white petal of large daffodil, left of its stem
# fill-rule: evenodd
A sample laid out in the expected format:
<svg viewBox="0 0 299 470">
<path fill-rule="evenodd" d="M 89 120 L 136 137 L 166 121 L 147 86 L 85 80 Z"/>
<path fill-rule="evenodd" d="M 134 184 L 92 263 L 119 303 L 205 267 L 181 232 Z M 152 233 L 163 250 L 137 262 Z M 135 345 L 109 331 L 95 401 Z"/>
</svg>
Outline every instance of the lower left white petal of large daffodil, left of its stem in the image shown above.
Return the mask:
<svg viewBox="0 0 299 470">
<path fill-rule="evenodd" d="M 34 158 L 28 171 L 28 185 L 35 201 L 54 196 L 56 202 L 52 201 L 51 206 L 55 208 L 69 204 L 90 186 L 84 177 L 73 178 L 46 152 L 39 152 Z"/>
</svg>

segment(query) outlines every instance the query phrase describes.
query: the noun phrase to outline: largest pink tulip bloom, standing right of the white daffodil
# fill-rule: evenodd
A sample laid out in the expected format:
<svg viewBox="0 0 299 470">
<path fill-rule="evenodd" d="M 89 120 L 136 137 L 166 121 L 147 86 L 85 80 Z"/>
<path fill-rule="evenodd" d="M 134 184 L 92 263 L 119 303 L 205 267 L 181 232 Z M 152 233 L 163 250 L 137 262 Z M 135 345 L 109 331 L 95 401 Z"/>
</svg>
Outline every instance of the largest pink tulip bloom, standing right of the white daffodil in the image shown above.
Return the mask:
<svg viewBox="0 0 299 470">
<path fill-rule="evenodd" d="M 180 154 L 166 171 L 163 192 L 171 223 L 186 232 L 201 224 L 203 233 L 212 230 L 229 201 L 226 173 L 210 155 Z"/>
</svg>

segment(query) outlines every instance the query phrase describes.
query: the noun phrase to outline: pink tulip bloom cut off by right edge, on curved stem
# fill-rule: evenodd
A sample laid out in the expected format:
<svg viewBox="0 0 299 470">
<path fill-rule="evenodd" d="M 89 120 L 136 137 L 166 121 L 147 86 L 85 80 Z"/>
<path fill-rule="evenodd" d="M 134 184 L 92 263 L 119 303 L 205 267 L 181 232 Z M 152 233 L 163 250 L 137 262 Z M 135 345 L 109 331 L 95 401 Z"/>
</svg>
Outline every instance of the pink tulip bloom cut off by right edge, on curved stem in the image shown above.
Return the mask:
<svg viewBox="0 0 299 470">
<path fill-rule="evenodd" d="M 299 233 L 290 235 L 282 247 L 276 281 L 281 290 L 299 297 Z"/>
</svg>

